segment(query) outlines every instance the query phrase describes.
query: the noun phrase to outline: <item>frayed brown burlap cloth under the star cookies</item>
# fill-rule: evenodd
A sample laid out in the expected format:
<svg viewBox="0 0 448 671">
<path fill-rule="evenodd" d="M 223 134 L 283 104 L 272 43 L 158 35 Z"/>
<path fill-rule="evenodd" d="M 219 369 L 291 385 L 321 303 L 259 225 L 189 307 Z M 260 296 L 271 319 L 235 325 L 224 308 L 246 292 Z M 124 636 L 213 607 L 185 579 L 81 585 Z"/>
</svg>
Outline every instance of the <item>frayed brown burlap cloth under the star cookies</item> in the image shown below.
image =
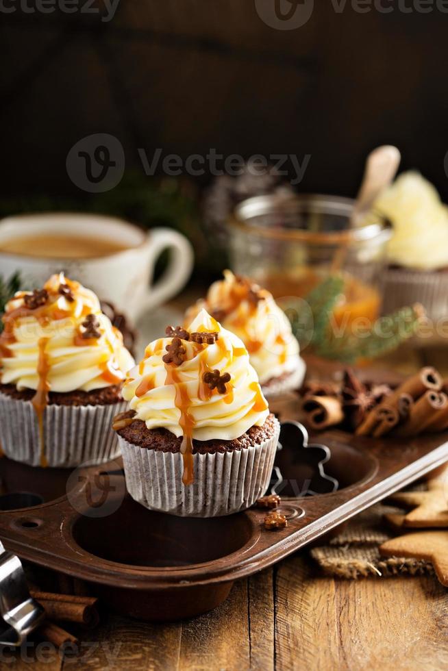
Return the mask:
<svg viewBox="0 0 448 671">
<path fill-rule="evenodd" d="M 414 485 L 410 489 L 416 491 L 425 489 L 425 486 Z M 423 559 L 380 557 L 378 547 L 399 535 L 398 531 L 388 529 L 383 516 L 386 513 L 401 512 L 403 511 L 397 507 L 377 503 L 353 518 L 345 529 L 325 545 L 312 548 L 310 555 L 325 574 L 339 578 L 434 573 L 432 564 Z"/>
</svg>

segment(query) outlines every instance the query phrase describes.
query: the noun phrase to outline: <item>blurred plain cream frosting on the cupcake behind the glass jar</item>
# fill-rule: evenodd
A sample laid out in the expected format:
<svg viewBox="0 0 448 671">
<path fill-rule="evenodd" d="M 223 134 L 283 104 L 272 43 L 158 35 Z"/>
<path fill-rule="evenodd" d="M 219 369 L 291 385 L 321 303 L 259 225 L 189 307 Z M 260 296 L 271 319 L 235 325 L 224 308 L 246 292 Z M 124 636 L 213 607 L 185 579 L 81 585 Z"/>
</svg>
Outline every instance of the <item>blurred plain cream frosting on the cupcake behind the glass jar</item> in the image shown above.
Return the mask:
<svg viewBox="0 0 448 671">
<path fill-rule="evenodd" d="M 400 175 L 374 205 L 393 223 L 388 260 L 403 268 L 448 267 L 448 209 L 419 173 Z"/>
</svg>

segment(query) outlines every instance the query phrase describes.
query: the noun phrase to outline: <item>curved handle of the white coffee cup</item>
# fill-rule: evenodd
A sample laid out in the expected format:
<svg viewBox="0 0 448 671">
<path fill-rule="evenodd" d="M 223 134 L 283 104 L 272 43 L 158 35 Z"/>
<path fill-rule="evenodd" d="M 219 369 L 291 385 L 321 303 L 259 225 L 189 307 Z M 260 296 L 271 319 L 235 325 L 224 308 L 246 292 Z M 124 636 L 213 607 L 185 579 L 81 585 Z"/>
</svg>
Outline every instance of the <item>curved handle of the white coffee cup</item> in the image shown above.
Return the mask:
<svg viewBox="0 0 448 671">
<path fill-rule="evenodd" d="M 144 312 L 168 301 L 182 288 L 190 277 L 194 255 L 190 242 L 182 235 L 169 228 L 154 228 L 148 233 L 148 268 L 151 274 L 155 262 L 165 249 L 171 251 L 169 263 L 162 277 L 147 288 L 139 301 L 137 318 Z"/>
</svg>

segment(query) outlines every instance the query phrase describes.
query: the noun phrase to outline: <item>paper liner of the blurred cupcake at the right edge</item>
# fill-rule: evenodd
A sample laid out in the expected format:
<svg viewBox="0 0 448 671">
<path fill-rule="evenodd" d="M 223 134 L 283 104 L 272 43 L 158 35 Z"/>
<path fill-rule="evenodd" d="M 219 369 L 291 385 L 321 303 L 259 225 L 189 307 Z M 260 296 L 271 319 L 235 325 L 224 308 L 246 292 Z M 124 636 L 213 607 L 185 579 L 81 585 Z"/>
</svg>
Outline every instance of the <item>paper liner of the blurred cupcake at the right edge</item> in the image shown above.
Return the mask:
<svg viewBox="0 0 448 671">
<path fill-rule="evenodd" d="M 447 317 L 448 272 L 388 268 L 385 274 L 383 312 L 421 303 L 434 322 Z"/>
</svg>

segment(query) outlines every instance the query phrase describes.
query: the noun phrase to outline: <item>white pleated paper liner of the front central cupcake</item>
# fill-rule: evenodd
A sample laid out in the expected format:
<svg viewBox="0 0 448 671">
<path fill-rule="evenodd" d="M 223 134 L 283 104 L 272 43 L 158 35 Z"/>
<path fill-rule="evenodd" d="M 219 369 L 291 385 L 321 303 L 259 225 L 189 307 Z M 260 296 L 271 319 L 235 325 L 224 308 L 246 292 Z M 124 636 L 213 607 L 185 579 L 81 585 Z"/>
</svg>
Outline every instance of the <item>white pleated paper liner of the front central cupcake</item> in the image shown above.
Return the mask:
<svg viewBox="0 0 448 671">
<path fill-rule="evenodd" d="M 182 455 L 133 445 L 119 437 L 129 494 L 151 510 L 181 517 L 219 517 L 249 508 L 268 488 L 280 425 L 261 444 L 195 454 L 194 483 L 182 483 Z"/>
</svg>

